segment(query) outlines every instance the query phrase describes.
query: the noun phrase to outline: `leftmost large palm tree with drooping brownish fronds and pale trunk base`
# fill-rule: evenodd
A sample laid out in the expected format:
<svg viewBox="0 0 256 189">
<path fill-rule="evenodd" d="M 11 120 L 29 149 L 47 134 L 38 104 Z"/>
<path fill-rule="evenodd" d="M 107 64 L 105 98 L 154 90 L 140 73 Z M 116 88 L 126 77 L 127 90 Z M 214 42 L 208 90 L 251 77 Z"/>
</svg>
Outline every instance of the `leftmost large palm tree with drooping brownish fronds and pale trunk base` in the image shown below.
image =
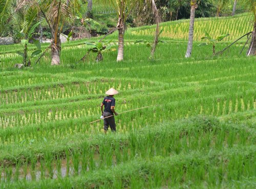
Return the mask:
<svg viewBox="0 0 256 189">
<path fill-rule="evenodd" d="M 51 65 L 60 64 L 61 41 L 60 34 L 64 23 L 73 18 L 74 9 L 79 9 L 79 0 L 35 0 L 41 13 L 46 18 L 52 33 Z"/>
</svg>

